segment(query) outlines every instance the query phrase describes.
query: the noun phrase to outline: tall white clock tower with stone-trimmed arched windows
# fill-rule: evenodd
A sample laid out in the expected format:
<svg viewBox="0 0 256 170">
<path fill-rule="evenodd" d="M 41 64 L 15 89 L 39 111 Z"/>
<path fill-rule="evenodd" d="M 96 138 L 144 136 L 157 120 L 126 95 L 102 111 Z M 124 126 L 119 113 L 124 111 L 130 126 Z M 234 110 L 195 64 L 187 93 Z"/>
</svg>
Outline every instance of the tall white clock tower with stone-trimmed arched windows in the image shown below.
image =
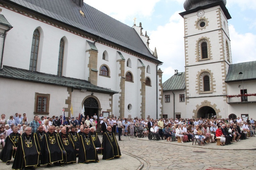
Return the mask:
<svg viewBox="0 0 256 170">
<path fill-rule="evenodd" d="M 226 0 L 186 0 L 184 18 L 186 115 L 228 117 L 225 78 L 232 64 Z"/>
</svg>

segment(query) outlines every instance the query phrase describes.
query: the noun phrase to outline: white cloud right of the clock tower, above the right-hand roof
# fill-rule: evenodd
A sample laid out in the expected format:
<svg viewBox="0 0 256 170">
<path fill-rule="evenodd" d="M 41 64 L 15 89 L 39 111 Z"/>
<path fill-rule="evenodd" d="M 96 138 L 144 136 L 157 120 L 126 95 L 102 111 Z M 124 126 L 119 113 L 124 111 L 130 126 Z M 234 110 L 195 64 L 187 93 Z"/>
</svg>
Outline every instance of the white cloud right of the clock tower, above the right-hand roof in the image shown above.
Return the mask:
<svg viewBox="0 0 256 170">
<path fill-rule="evenodd" d="M 233 25 L 229 25 L 232 63 L 256 60 L 256 35 L 252 33 L 239 34 Z"/>
</svg>

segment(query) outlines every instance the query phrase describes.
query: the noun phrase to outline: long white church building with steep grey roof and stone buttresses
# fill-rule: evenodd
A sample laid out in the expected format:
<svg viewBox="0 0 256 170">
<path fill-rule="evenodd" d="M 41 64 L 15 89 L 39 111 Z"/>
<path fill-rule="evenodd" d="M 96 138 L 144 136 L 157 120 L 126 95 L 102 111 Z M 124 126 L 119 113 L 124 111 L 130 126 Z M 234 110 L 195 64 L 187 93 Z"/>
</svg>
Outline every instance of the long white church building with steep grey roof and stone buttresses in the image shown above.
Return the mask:
<svg viewBox="0 0 256 170">
<path fill-rule="evenodd" d="M 162 71 L 142 26 L 82 0 L 0 0 L 0 112 L 58 116 L 162 114 Z M 139 35 L 138 35 L 139 34 Z M 1 45 L 1 44 L 0 44 Z M 66 116 L 67 117 L 67 116 Z"/>
</svg>

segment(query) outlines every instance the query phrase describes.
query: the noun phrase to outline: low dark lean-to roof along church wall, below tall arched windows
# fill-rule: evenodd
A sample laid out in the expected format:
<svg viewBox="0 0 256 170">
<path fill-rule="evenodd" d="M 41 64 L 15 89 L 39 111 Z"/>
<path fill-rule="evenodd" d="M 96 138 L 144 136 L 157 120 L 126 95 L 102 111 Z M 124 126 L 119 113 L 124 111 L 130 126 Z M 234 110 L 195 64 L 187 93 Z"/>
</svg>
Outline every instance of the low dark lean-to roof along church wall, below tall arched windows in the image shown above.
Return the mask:
<svg viewBox="0 0 256 170">
<path fill-rule="evenodd" d="M 29 71 L 21 68 L 3 66 L 0 70 L 1 78 L 16 79 L 21 81 L 30 81 L 42 84 L 51 84 L 56 86 L 72 87 L 74 89 L 85 89 L 90 92 L 99 92 L 106 94 L 115 94 L 118 92 L 112 91 L 108 88 L 102 88 L 91 84 L 89 81 L 77 78 L 57 76 L 53 74 L 46 74 L 36 71 Z"/>
</svg>

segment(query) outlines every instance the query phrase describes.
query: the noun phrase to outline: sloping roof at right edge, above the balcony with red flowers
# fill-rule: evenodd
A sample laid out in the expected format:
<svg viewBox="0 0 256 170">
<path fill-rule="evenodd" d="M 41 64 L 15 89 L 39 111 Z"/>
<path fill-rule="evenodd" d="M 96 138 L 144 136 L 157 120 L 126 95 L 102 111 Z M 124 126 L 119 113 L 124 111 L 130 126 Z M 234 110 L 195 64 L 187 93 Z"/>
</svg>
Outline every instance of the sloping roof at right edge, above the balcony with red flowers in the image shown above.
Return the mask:
<svg viewBox="0 0 256 170">
<path fill-rule="evenodd" d="M 231 64 L 225 82 L 255 80 L 256 61 Z"/>
</svg>

